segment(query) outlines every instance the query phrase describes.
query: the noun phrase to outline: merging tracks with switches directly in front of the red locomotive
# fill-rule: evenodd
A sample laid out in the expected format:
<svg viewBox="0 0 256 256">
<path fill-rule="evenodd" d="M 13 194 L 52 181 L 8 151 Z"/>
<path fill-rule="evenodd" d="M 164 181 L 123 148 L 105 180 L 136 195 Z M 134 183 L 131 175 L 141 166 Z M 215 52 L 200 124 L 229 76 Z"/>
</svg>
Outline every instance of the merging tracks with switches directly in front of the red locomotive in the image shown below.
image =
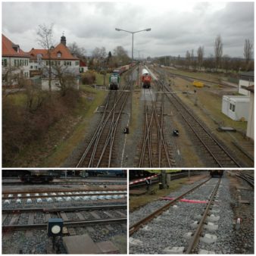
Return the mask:
<svg viewBox="0 0 256 256">
<path fill-rule="evenodd" d="M 150 95 L 148 101 L 146 94 Z M 145 97 L 145 126 L 139 167 L 173 167 L 172 159 L 164 135 L 164 95 L 155 96 L 151 89 L 143 89 Z M 160 99 L 159 99 L 160 98 Z"/>
</svg>

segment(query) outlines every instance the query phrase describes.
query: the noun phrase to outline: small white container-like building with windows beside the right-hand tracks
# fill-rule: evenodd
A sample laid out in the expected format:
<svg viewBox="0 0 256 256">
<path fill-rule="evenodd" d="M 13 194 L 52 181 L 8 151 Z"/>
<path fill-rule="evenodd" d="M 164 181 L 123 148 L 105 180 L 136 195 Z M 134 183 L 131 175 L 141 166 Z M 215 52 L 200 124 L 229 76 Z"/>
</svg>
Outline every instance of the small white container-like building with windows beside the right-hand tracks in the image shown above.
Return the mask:
<svg viewBox="0 0 256 256">
<path fill-rule="evenodd" d="M 223 95 L 222 113 L 226 114 L 232 120 L 248 120 L 249 116 L 248 96 Z"/>
</svg>

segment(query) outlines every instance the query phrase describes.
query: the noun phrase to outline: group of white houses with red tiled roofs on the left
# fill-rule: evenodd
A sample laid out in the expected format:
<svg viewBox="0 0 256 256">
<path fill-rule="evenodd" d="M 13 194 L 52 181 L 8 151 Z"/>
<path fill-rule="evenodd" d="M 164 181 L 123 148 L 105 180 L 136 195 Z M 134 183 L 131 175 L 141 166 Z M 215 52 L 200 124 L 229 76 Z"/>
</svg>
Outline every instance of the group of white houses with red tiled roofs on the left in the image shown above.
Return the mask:
<svg viewBox="0 0 256 256">
<path fill-rule="evenodd" d="M 61 42 L 51 49 L 32 48 L 26 53 L 2 34 L 2 82 L 6 86 L 17 85 L 20 77 L 39 77 L 42 89 L 48 89 L 48 77 L 52 70 L 52 89 L 58 89 L 61 74 L 76 76 L 78 86 L 80 72 L 86 71 L 83 61 L 73 56 L 66 45 L 66 37 L 61 36 Z"/>
</svg>

